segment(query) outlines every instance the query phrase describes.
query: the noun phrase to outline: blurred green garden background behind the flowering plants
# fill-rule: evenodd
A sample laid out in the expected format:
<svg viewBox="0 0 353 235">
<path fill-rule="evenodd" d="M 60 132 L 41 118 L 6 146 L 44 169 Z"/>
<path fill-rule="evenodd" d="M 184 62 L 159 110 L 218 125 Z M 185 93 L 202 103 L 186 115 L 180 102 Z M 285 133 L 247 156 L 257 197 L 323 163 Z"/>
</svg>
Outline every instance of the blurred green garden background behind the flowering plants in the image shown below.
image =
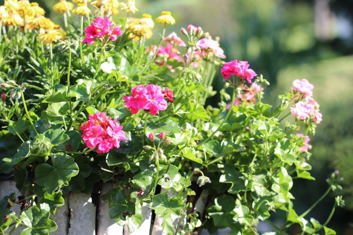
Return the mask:
<svg viewBox="0 0 353 235">
<path fill-rule="evenodd" d="M 58 1 L 37 2 L 47 17 L 63 25 L 59 14 L 50 13 Z M 181 36 L 180 28 L 193 24 L 218 36 L 225 61 L 247 60 L 270 81 L 265 89 L 270 104 L 279 104 L 277 96 L 289 91 L 295 79 L 305 78 L 315 86 L 313 96 L 323 115 L 316 135 L 310 136 L 309 163 L 316 180 L 295 180 L 294 208 L 299 214 L 309 208 L 327 190 L 325 179 L 338 169 L 346 207 L 336 209 L 327 226 L 337 234 L 353 234 L 353 0 L 136 0 L 136 5 L 139 12 L 134 17 L 149 13 L 155 19 L 161 11 L 171 11 L 177 23 L 167 26 L 167 34 L 175 31 Z M 120 11 L 116 17 L 125 16 Z M 152 41 L 161 32 L 162 24 L 157 23 Z M 213 86 L 223 87 L 220 73 Z M 288 121 L 293 123 L 293 117 Z M 324 223 L 335 195 L 306 218 Z M 296 229 L 291 233 L 299 233 Z"/>
</svg>

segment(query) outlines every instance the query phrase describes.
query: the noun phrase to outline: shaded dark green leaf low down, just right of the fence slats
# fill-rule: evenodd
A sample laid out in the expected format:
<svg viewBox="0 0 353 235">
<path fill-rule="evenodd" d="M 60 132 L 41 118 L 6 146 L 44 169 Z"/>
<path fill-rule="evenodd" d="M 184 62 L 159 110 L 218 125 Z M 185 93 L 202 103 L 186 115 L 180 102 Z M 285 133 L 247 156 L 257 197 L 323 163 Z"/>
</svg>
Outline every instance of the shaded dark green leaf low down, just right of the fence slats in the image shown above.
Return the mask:
<svg viewBox="0 0 353 235">
<path fill-rule="evenodd" d="M 215 205 L 207 209 L 217 227 L 228 227 L 234 223 L 235 198 L 226 194 L 214 199 Z"/>
</svg>

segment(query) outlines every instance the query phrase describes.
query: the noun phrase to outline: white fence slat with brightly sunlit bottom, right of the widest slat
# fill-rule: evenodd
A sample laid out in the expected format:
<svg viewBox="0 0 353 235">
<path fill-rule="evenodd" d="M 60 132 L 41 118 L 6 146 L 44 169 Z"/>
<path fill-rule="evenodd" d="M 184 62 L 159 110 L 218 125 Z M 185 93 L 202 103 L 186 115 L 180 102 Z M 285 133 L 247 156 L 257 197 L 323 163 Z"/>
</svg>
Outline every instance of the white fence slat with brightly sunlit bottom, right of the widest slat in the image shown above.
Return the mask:
<svg viewBox="0 0 353 235">
<path fill-rule="evenodd" d="M 107 193 L 112 189 L 112 184 L 106 183 L 102 184 L 100 195 Z M 123 226 L 120 226 L 116 223 L 116 219 L 111 219 L 109 217 L 109 202 L 98 201 L 98 230 L 97 235 L 122 235 Z"/>
</svg>

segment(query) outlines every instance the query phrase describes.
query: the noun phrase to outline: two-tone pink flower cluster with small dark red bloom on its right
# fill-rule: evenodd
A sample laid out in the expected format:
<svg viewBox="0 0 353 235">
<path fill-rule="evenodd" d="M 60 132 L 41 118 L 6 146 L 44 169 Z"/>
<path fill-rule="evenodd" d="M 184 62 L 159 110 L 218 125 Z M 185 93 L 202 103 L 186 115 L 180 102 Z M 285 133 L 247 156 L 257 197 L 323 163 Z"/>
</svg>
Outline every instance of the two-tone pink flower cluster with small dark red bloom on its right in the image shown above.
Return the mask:
<svg viewBox="0 0 353 235">
<path fill-rule="evenodd" d="M 162 90 L 160 86 L 150 84 L 148 86 L 138 85 L 131 88 L 132 96 L 124 95 L 123 99 L 127 101 L 125 106 L 131 110 L 132 114 L 138 112 L 138 109 L 149 111 L 152 115 L 156 115 L 158 110 L 167 109 L 166 97 L 170 102 L 173 100 L 173 91 L 168 87 Z"/>
</svg>

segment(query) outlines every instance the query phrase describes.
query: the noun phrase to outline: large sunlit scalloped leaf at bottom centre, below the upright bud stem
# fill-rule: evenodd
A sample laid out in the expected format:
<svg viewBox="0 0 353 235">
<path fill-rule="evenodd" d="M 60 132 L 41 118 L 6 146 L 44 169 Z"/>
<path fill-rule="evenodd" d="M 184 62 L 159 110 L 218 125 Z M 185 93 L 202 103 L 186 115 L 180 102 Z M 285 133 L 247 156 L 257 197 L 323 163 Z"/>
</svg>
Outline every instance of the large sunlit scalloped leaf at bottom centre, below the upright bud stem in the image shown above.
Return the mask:
<svg viewBox="0 0 353 235">
<path fill-rule="evenodd" d="M 184 207 L 183 200 L 177 197 L 168 198 L 166 193 L 155 195 L 149 206 L 159 217 L 170 216 L 170 214 L 180 216 Z"/>
</svg>

